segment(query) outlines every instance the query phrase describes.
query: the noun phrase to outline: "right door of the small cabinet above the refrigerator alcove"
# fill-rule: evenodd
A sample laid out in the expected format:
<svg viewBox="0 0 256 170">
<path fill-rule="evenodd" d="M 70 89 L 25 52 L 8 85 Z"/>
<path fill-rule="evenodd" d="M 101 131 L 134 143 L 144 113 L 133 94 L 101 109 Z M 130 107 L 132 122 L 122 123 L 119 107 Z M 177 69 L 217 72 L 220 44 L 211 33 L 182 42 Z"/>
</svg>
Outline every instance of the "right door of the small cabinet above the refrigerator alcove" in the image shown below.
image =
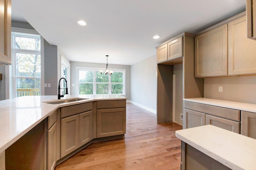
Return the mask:
<svg viewBox="0 0 256 170">
<path fill-rule="evenodd" d="M 183 56 L 182 37 L 168 43 L 168 60 Z"/>
</svg>

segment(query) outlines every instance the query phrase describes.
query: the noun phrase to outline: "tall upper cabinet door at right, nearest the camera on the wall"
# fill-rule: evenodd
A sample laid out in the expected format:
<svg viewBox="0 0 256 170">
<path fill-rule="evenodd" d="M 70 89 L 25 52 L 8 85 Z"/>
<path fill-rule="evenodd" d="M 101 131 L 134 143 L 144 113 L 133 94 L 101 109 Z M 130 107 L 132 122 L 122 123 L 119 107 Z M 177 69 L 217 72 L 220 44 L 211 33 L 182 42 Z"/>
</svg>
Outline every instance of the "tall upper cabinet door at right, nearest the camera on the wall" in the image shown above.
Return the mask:
<svg viewBox="0 0 256 170">
<path fill-rule="evenodd" d="M 256 41 L 246 31 L 246 16 L 228 23 L 228 75 L 256 74 Z"/>
</svg>

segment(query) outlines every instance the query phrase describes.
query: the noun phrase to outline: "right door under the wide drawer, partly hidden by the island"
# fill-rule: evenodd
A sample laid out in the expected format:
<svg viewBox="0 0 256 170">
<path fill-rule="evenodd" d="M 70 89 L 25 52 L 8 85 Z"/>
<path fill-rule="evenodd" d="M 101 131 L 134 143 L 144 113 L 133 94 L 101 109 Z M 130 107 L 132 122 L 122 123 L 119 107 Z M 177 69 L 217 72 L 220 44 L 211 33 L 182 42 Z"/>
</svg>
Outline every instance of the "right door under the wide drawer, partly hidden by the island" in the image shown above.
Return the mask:
<svg viewBox="0 0 256 170">
<path fill-rule="evenodd" d="M 239 122 L 223 119 L 223 118 L 212 116 L 212 115 L 206 115 L 206 125 L 213 125 L 216 127 L 224 128 L 232 132 L 240 133 Z"/>
</svg>

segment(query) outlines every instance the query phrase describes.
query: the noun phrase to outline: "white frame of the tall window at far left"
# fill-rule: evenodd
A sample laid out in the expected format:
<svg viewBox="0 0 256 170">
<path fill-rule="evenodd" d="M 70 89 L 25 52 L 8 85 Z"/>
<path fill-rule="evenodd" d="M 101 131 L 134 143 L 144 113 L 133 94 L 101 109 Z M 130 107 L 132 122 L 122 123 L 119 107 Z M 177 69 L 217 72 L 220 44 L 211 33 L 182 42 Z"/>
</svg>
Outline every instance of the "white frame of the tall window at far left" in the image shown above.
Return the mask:
<svg viewBox="0 0 256 170">
<path fill-rule="evenodd" d="M 36 32 L 36 30 L 31 30 L 31 29 L 25 29 L 25 28 L 15 28 L 12 27 L 12 37 L 11 37 L 11 41 L 12 41 L 12 65 L 11 65 L 11 69 L 10 69 L 10 87 L 11 87 L 11 91 L 10 91 L 10 97 L 11 98 L 16 98 L 16 78 L 29 78 L 29 79 L 40 79 L 40 95 L 44 95 L 44 38 L 42 38 L 42 36 L 40 36 L 40 34 L 38 32 Z M 30 35 L 28 35 L 30 34 Z M 31 37 L 31 38 L 40 38 L 40 50 L 31 50 L 31 49 L 17 49 L 14 48 L 15 47 L 15 42 L 14 42 L 14 38 L 16 37 L 16 35 L 21 35 L 22 37 Z M 40 77 L 21 77 L 21 76 L 16 76 L 16 59 L 14 59 L 14 57 L 16 57 L 16 53 L 28 53 L 28 54 L 37 54 L 40 55 L 41 57 L 41 73 L 40 73 Z"/>
</svg>

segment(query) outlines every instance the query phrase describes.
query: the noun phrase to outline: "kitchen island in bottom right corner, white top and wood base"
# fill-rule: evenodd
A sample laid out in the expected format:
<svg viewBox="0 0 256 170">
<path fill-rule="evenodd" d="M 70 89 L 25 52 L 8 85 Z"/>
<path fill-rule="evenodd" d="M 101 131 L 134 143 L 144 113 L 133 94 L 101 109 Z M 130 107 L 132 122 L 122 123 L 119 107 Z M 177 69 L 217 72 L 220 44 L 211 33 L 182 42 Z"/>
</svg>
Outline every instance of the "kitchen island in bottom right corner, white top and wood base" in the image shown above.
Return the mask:
<svg viewBox="0 0 256 170">
<path fill-rule="evenodd" d="M 182 170 L 256 169 L 256 139 L 212 125 L 176 131 L 186 150 Z"/>
</svg>

